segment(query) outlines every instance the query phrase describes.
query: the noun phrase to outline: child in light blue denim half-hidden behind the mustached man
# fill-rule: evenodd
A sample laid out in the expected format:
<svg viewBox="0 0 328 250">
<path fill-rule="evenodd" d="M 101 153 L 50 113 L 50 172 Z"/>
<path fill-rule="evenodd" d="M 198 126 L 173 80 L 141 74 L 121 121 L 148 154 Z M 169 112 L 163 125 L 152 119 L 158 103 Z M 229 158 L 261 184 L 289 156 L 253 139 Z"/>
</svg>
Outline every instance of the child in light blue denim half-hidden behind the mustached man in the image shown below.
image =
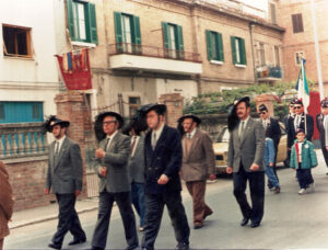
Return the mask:
<svg viewBox="0 0 328 250">
<path fill-rule="evenodd" d="M 274 145 L 273 145 L 273 140 L 269 137 L 266 138 L 266 151 L 265 151 L 265 163 L 266 163 L 266 173 L 267 177 L 270 181 L 270 183 L 272 184 L 272 191 L 274 194 L 279 194 L 280 193 L 280 185 L 279 185 L 279 180 L 274 174 L 273 171 L 273 164 L 274 164 L 274 155 L 276 155 L 276 150 L 274 150 Z"/>
</svg>

